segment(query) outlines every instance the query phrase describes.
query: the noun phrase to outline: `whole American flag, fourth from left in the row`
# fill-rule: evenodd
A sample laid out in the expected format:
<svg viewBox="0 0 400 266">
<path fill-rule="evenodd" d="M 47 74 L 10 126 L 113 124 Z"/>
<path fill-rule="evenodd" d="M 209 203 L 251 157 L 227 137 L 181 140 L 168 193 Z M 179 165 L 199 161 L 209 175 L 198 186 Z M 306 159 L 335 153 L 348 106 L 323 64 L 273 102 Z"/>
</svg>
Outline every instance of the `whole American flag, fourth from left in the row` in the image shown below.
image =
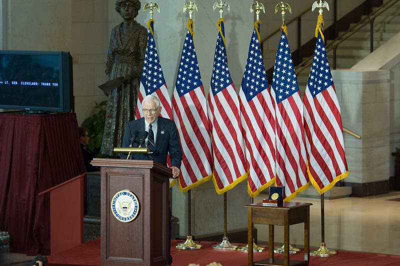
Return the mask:
<svg viewBox="0 0 400 266">
<path fill-rule="evenodd" d="M 256 196 L 275 181 L 275 109 L 258 39 L 256 21 L 239 91 L 248 193 Z"/>
</svg>

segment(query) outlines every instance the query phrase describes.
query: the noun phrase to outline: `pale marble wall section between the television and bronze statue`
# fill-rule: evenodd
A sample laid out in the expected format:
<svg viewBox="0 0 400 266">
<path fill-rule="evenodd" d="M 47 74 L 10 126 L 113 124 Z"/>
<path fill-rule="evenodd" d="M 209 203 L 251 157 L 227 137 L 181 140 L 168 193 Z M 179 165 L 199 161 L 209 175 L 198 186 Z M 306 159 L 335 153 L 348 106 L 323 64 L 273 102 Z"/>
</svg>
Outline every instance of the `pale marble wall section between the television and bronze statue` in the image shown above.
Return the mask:
<svg viewBox="0 0 400 266">
<path fill-rule="evenodd" d="M 73 94 L 80 124 L 97 111 L 95 102 L 106 99 L 97 86 L 107 81 L 104 69 L 110 25 L 118 20 L 109 18 L 109 4 L 104 0 L 71 0 L 71 9 Z"/>
</svg>

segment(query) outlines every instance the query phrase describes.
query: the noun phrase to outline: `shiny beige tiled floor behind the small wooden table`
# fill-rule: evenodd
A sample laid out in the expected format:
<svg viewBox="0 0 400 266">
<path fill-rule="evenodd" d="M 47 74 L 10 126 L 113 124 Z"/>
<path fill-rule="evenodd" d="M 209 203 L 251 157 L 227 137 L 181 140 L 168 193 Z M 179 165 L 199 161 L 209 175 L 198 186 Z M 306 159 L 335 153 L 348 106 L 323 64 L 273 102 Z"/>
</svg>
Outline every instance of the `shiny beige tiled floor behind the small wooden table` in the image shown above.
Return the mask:
<svg viewBox="0 0 400 266">
<path fill-rule="evenodd" d="M 259 202 L 265 195 L 254 198 Z M 395 200 L 393 200 L 395 199 Z M 325 243 L 330 249 L 400 254 L 400 191 L 370 197 L 345 197 L 324 201 Z M 321 242 L 320 199 L 311 202 L 310 246 Z M 290 226 L 290 244 L 303 245 L 303 223 Z M 256 224 L 258 241 L 268 241 L 268 225 Z M 283 242 L 283 226 L 275 226 L 275 242 Z"/>
</svg>

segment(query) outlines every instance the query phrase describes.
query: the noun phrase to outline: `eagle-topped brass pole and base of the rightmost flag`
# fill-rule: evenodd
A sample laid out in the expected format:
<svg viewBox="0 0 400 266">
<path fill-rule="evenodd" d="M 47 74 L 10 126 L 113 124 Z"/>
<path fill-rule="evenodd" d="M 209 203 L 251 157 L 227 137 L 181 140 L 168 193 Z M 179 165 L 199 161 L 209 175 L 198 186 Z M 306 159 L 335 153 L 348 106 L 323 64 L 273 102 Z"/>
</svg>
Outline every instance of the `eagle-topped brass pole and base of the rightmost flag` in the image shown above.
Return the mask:
<svg viewBox="0 0 400 266">
<path fill-rule="evenodd" d="M 322 32 L 322 26 L 323 26 L 323 17 L 322 17 L 322 13 L 323 13 L 323 7 L 325 7 L 328 11 L 329 11 L 329 5 L 326 1 L 323 0 L 319 0 L 315 1 L 312 4 L 312 8 L 311 10 L 314 11 L 314 9 L 318 7 L 318 19 L 317 19 L 317 24 L 316 24 L 316 28 L 315 28 L 315 35 L 316 37 L 318 36 L 318 32 L 321 34 L 322 40 L 323 40 L 323 32 Z M 325 216 L 324 216 L 324 197 L 323 197 L 323 193 L 321 194 L 321 243 L 319 245 L 319 248 L 317 250 L 314 250 L 312 252 L 310 252 L 309 254 L 311 256 L 319 256 L 319 257 L 327 257 L 327 256 L 331 256 L 337 253 L 336 250 L 331 250 L 328 249 L 326 247 L 326 243 L 325 243 Z"/>
</svg>

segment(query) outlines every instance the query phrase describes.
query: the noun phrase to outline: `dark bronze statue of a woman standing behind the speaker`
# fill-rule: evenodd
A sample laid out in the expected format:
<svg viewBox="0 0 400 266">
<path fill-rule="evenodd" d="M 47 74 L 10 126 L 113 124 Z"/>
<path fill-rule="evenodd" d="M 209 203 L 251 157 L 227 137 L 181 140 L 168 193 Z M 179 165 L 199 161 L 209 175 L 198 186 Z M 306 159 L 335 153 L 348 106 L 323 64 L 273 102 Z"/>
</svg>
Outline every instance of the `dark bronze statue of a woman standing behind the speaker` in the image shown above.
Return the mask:
<svg viewBox="0 0 400 266">
<path fill-rule="evenodd" d="M 112 28 L 105 73 L 108 80 L 124 76 L 126 81 L 108 93 L 101 153 L 113 155 L 122 145 L 126 124 L 136 111 L 137 91 L 147 44 L 147 30 L 136 22 L 139 0 L 117 0 L 115 10 L 123 21 Z"/>
</svg>

